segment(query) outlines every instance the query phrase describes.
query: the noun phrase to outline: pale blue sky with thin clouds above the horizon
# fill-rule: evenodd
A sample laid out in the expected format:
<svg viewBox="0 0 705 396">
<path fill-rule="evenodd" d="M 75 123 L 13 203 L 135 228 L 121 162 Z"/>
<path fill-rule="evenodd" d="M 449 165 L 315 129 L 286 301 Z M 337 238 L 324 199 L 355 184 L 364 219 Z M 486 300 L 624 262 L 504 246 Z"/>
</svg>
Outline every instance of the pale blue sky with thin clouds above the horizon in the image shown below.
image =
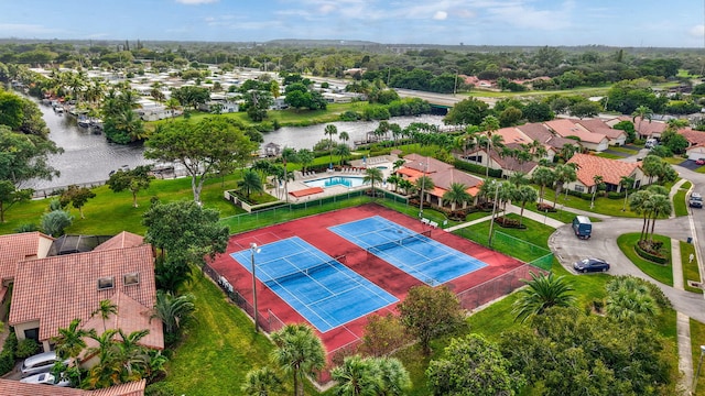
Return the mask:
<svg viewBox="0 0 705 396">
<path fill-rule="evenodd" d="M 705 47 L 705 0 L 0 0 L 0 37 Z"/>
</svg>

